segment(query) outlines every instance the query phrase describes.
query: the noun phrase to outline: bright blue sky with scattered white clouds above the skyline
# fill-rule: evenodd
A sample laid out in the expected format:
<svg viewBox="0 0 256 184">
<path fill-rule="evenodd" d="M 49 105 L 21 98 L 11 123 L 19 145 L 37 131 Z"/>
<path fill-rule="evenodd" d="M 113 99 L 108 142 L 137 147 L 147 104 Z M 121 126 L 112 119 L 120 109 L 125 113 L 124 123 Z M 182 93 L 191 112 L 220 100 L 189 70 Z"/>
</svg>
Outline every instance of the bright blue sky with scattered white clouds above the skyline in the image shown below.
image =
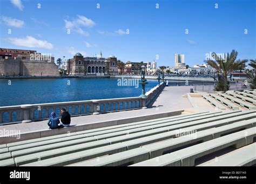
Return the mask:
<svg viewBox="0 0 256 184">
<path fill-rule="evenodd" d="M 254 0 L 0 3 L 0 47 L 37 50 L 56 59 L 102 51 L 103 57 L 114 54 L 123 62 L 156 60 L 158 66 L 174 66 L 175 53 L 185 54 L 190 66 L 203 63 L 207 53 L 232 49 L 239 59 L 256 58 Z"/>
</svg>

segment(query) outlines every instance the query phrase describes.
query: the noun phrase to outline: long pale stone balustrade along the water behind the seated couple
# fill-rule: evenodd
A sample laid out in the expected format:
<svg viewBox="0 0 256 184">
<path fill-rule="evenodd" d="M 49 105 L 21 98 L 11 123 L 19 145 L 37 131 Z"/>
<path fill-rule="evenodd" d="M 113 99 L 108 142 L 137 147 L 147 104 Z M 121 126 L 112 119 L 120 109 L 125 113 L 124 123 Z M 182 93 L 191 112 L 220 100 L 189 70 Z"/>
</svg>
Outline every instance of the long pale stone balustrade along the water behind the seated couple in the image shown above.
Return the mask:
<svg viewBox="0 0 256 184">
<path fill-rule="evenodd" d="M 152 88 L 146 93 L 146 98 L 113 98 L 0 107 L 0 125 L 45 120 L 49 118 L 51 112 L 55 112 L 60 117 L 61 108 L 69 111 L 72 117 L 146 108 L 163 88 L 163 83 Z"/>
</svg>

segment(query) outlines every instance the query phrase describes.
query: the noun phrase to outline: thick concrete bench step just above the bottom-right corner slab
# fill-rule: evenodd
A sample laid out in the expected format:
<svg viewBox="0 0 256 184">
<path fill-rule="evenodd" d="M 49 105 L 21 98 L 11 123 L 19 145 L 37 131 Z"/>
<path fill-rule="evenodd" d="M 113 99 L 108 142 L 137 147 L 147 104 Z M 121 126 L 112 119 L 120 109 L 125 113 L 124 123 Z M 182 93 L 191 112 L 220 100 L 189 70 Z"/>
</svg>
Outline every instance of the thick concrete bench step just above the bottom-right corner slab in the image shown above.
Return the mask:
<svg viewBox="0 0 256 184">
<path fill-rule="evenodd" d="M 150 160 L 135 163 L 132 166 L 194 166 L 194 161 L 201 156 L 234 146 L 240 148 L 252 144 L 256 136 L 256 127 L 235 132 L 224 137 L 180 149 L 176 152 L 158 156 Z"/>
</svg>

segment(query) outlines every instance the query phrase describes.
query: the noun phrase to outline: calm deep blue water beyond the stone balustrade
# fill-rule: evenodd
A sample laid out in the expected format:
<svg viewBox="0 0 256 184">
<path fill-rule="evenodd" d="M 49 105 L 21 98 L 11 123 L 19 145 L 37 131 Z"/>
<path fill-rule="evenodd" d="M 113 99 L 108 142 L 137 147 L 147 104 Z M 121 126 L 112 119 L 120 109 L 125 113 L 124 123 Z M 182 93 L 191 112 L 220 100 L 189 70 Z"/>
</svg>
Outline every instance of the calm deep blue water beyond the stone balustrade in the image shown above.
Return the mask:
<svg viewBox="0 0 256 184">
<path fill-rule="evenodd" d="M 145 91 L 158 84 L 157 80 L 147 81 Z M 117 78 L 0 79 L 0 106 L 138 97 L 142 93 L 141 85 L 117 84 Z"/>
</svg>

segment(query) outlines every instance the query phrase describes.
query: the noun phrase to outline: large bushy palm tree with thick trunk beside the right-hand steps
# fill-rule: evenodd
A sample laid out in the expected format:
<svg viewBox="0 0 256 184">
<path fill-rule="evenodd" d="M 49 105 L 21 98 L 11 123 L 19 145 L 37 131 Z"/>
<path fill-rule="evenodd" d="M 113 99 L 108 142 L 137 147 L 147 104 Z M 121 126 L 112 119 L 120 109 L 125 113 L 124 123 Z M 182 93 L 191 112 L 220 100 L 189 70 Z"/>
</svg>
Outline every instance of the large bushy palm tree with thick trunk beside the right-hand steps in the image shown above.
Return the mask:
<svg viewBox="0 0 256 184">
<path fill-rule="evenodd" d="M 227 56 L 224 58 L 221 58 L 215 54 L 215 60 L 206 60 L 206 63 L 213 67 L 213 69 L 215 69 L 215 73 L 218 75 L 218 83 L 215 87 L 216 91 L 226 92 L 230 87 L 229 81 L 227 80 L 227 75 L 233 70 L 240 70 L 241 68 L 245 67 L 247 59 L 236 60 L 237 54 L 237 51 L 232 50 L 231 53 L 227 53 Z"/>
</svg>

